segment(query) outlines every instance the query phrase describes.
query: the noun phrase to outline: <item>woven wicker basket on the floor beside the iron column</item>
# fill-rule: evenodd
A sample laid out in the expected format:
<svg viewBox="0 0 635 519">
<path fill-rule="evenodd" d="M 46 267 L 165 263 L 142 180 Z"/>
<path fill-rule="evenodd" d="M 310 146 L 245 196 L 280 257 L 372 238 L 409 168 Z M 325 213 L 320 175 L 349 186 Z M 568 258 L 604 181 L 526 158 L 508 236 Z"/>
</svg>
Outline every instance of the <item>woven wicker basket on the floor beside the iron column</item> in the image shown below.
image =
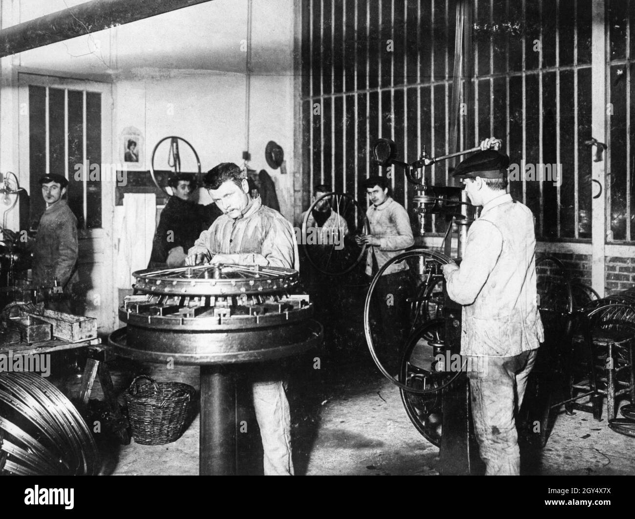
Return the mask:
<svg viewBox="0 0 635 519">
<path fill-rule="evenodd" d="M 137 385 L 139 379 L 149 384 Z M 183 433 L 185 418 L 194 388 L 181 382 L 156 382 L 139 375 L 125 393 L 135 443 L 164 445 Z"/>
</svg>

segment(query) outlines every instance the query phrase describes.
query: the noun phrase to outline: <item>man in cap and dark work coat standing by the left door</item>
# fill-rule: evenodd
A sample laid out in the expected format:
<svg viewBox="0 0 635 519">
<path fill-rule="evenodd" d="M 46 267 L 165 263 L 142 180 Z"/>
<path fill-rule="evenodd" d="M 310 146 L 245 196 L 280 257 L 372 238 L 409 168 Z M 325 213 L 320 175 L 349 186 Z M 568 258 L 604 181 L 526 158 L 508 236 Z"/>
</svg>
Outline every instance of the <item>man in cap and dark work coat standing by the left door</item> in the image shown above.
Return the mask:
<svg viewBox="0 0 635 519">
<path fill-rule="evenodd" d="M 62 175 L 51 173 L 39 179 L 46 210 L 39 219 L 33 248 L 32 276 L 35 285 L 64 287 L 69 294 L 78 280 L 77 218 L 62 197 L 69 181 Z M 51 301 L 51 309 L 70 311 L 67 302 Z"/>
</svg>

